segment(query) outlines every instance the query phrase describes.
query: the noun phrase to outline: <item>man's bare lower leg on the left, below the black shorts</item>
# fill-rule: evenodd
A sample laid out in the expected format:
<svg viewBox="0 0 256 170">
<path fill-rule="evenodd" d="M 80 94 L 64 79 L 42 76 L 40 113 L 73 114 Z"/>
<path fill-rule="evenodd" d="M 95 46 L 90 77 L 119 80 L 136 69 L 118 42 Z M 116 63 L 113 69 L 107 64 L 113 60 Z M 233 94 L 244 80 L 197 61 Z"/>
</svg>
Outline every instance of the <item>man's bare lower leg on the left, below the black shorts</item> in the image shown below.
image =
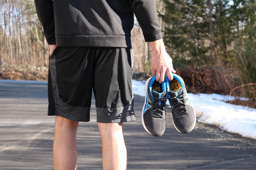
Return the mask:
<svg viewBox="0 0 256 170">
<path fill-rule="evenodd" d="M 76 170 L 76 130 L 78 123 L 61 116 L 55 117 L 54 170 Z"/>
</svg>

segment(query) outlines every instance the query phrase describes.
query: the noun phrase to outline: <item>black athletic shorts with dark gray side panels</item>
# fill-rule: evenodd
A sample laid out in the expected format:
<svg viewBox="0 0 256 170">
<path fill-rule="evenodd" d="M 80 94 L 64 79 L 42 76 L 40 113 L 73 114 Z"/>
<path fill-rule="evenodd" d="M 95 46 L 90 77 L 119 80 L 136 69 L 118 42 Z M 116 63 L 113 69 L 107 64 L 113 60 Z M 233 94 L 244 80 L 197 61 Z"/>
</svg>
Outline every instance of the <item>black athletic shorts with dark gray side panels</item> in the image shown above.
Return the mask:
<svg viewBox="0 0 256 170">
<path fill-rule="evenodd" d="M 57 47 L 49 57 L 48 116 L 90 121 L 92 89 L 97 122 L 135 121 L 131 48 Z"/>
</svg>

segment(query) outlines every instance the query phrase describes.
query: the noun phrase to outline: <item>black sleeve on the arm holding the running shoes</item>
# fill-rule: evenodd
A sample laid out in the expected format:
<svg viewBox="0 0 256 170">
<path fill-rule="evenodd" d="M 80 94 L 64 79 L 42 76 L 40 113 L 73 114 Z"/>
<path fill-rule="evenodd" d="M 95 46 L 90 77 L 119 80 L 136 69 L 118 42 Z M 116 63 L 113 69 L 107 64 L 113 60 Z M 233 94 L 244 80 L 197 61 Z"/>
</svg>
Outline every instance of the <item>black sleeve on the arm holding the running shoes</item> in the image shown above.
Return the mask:
<svg viewBox="0 0 256 170">
<path fill-rule="evenodd" d="M 130 3 L 143 31 L 145 42 L 163 38 L 158 23 L 155 0 L 130 0 Z"/>
</svg>

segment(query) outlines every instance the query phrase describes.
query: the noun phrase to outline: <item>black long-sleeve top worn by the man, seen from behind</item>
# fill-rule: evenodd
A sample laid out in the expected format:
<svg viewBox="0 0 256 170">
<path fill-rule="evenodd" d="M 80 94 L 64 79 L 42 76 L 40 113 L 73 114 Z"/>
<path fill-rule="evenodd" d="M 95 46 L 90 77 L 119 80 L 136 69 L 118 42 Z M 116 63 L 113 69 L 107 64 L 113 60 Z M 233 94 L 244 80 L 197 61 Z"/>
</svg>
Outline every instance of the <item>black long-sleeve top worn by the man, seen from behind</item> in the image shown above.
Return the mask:
<svg viewBox="0 0 256 170">
<path fill-rule="evenodd" d="M 155 0 L 35 0 L 49 45 L 131 48 L 134 14 L 146 42 L 162 38 Z"/>
</svg>

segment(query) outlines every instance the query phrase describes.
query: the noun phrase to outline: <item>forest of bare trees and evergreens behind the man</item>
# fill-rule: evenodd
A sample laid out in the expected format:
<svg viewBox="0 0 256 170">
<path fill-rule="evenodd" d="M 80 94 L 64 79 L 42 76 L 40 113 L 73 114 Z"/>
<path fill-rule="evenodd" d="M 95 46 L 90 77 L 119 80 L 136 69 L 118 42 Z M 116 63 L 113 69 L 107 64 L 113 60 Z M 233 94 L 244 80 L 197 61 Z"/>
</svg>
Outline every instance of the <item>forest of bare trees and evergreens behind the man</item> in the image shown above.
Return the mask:
<svg viewBox="0 0 256 170">
<path fill-rule="evenodd" d="M 244 96 L 256 108 L 256 0 L 156 0 L 166 51 L 189 92 Z M 135 20 L 134 78 L 151 76 Z M 0 78 L 47 80 L 49 45 L 34 0 L 0 0 Z"/>
</svg>

